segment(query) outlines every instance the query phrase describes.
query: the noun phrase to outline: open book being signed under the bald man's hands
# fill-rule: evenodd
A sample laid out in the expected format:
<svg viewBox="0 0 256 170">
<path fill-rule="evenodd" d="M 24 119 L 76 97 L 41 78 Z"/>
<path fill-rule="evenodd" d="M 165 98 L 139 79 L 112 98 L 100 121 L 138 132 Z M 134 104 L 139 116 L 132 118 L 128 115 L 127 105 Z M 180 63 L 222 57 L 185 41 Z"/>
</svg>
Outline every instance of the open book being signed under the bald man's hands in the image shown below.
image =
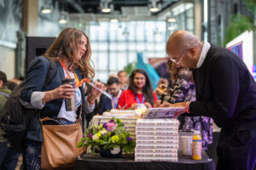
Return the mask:
<svg viewBox="0 0 256 170">
<path fill-rule="evenodd" d="M 142 118 L 169 117 L 173 118 L 175 113 L 183 111 L 184 107 L 156 107 L 148 108 L 143 112 Z"/>
</svg>

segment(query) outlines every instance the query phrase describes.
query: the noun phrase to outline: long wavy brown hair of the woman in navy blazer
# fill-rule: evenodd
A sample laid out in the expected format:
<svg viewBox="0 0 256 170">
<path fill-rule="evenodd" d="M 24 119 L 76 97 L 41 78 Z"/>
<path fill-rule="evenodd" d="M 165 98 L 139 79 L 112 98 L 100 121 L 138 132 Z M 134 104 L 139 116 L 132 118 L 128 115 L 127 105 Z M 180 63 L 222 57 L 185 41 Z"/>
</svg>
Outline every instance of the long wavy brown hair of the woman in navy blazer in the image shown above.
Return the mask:
<svg viewBox="0 0 256 170">
<path fill-rule="evenodd" d="M 77 63 L 74 63 L 73 59 L 75 59 L 79 53 L 79 49 L 77 47 L 79 47 L 79 43 L 81 43 L 82 36 L 87 39 L 86 51 L 82 58 Z M 90 65 L 90 62 L 92 62 L 90 60 L 90 55 L 91 50 L 89 38 L 86 36 L 84 31 L 80 31 L 75 28 L 65 28 L 61 31 L 59 37 L 55 39 L 55 42 L 51 44 L 44 54 L 45 57 L 54 60 L 67 57 L 70 61 L 70 65 L 68 65 L 67 68 L 69 71 L 73 71 L 75 67 L 79 67 L 85 77 L 93 78 L 95 76 L 95 71 Z"/>
</svg>

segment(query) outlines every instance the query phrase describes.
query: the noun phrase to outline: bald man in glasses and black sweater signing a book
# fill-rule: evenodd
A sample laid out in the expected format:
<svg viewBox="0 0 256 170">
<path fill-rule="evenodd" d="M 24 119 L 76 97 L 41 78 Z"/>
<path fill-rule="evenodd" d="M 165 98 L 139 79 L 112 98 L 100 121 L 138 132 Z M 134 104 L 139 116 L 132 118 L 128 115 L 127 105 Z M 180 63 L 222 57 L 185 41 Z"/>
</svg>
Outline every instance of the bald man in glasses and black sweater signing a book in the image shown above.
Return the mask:
<svg viewBox="0 0 256 170">
<path fill-rule="evenodd" d="M 222 127 L 217 169 L 253 170 L 256 164 L 256 83 L 243 61 L 226 48 L 200 42 L 188 31 L 176 31 L 166 52 L 177 65 L 193 69 L 196 101 L 156 106 L 212 117 Z"/>
</svg>

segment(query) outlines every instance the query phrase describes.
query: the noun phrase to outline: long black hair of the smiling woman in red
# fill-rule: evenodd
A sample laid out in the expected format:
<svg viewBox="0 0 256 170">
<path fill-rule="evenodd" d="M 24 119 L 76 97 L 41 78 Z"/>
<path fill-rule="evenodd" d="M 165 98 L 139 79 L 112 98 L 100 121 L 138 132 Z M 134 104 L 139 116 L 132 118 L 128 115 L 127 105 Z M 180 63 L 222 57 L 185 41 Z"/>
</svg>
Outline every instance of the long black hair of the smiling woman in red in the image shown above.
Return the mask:
<svg viewBox="0 0 256 170">
<path fill-rule="evenodd" d="M 154 105 L 153 88 L 151 86 L 151 82 L 146 71 L 143 71 L 141 69 L 132 71 L 131 76 L 129 77 L 130 84 L 128 89 L 131 89 L 134 93 L 137 93 L 136 86 L 134 85 L 133 82 L 134 77 L 137 73 L 143 74 L 146 77 L 145 86 L 143 87 L 143 94 L 145 96 L 145 100 L 151 105 Z"/>
</svg>

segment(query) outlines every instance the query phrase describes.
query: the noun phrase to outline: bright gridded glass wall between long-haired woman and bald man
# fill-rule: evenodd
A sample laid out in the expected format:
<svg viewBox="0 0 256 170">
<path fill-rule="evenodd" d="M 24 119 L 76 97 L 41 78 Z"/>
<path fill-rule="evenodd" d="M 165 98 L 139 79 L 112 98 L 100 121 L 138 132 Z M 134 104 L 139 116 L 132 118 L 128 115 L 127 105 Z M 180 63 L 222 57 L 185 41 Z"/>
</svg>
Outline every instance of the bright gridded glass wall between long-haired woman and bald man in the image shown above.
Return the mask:
<svg viewBox="0 0 256 170">
<path fill-rule="evenodd" d="M 100 22 L 87 30 L 95 80 L 107 82 L 108 75 L 137 62 L 137 53 L 143 53 L 145 63 L 148 58 L 166 57 L 166 21 Z"/>
</svg>

